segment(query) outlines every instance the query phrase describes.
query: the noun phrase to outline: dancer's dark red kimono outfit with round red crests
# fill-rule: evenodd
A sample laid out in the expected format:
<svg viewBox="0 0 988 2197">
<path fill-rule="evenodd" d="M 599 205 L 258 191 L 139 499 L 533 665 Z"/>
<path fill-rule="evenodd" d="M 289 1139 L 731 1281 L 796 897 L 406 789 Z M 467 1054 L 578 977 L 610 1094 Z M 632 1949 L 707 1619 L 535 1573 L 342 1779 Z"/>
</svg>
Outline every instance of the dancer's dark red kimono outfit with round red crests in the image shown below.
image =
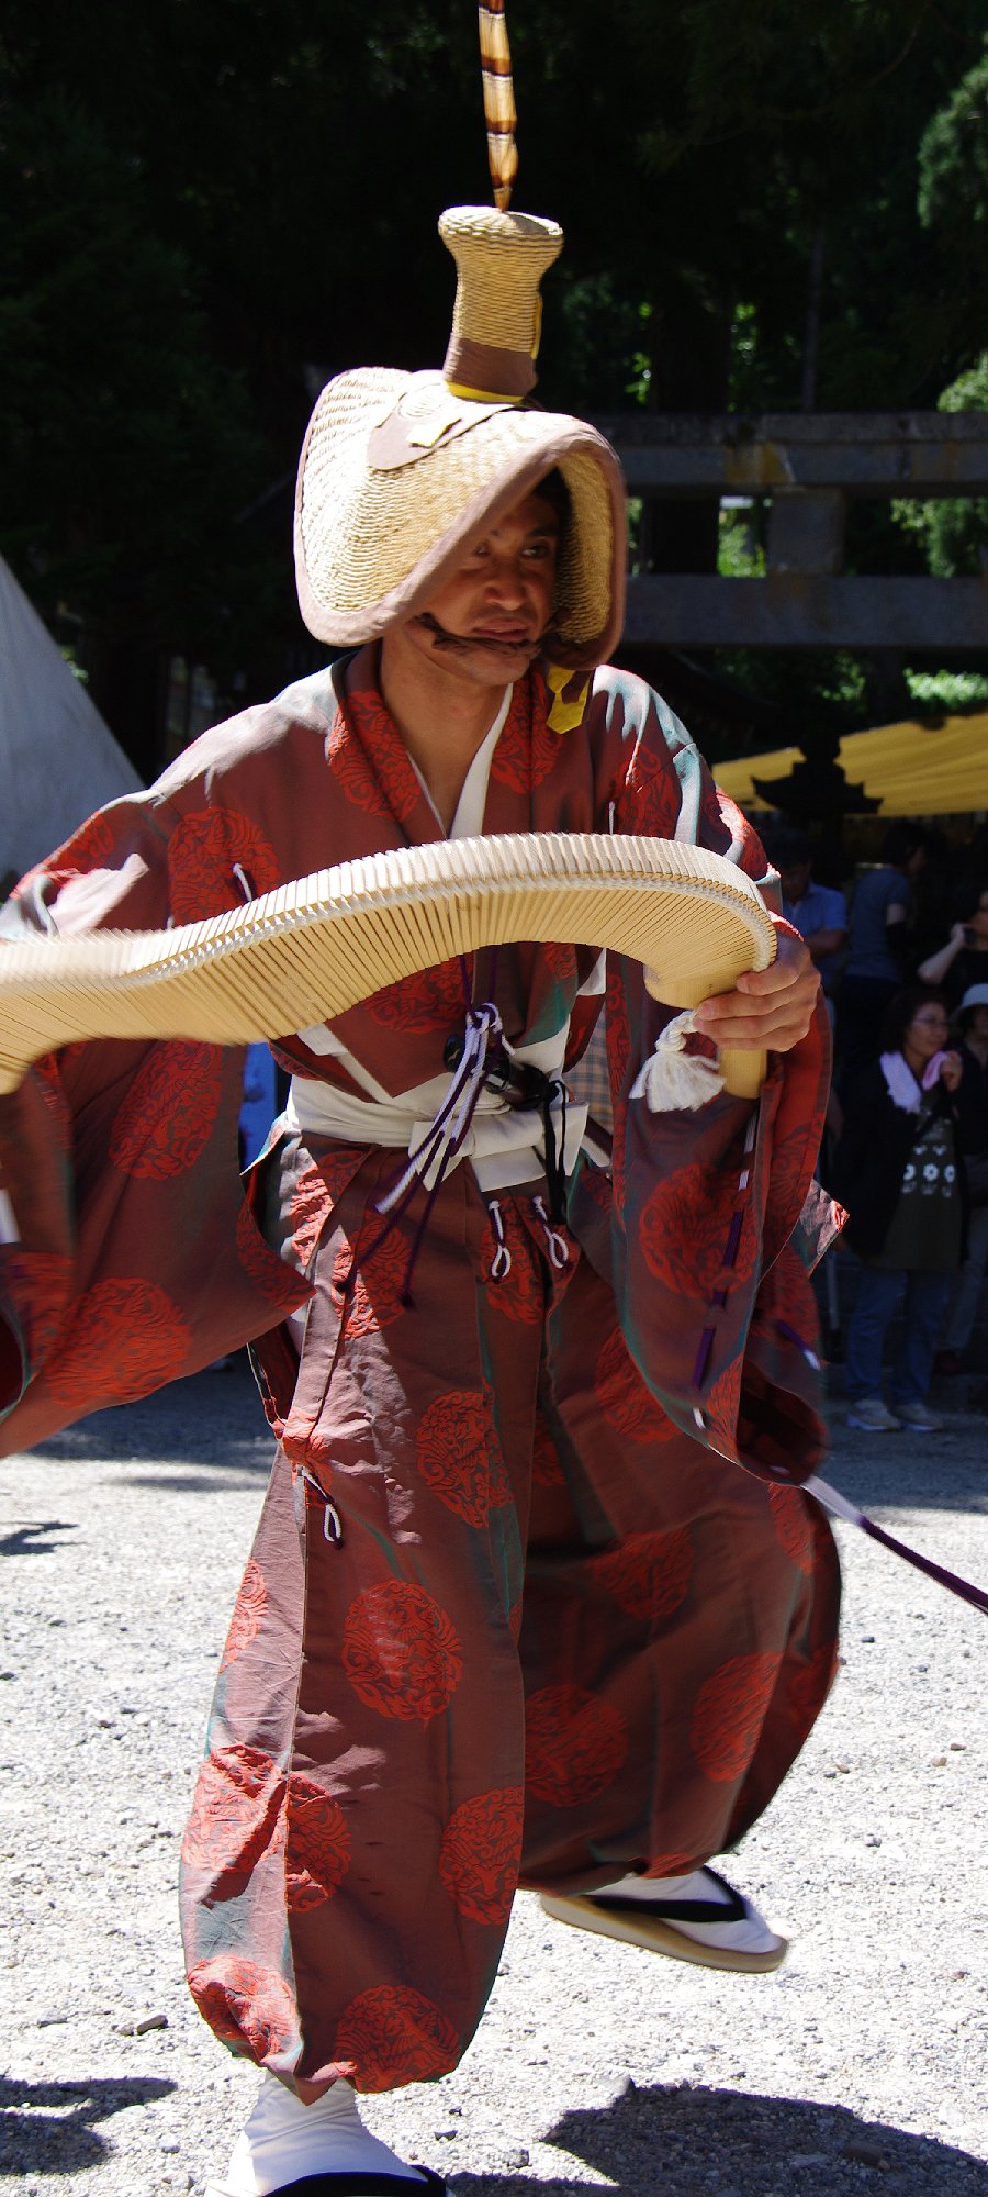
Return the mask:
<svg viewBox="0 0 988 2197">
<path fill-rule="evenodd" d="M 334 681 L 222 725 L 94 817 L 7 932 L 198 918 L 437 839 L 373 650 Z M 665 705 L 615 670 L 593 690 L 520 681 L 483 828 L 676 835 L 762 872 Z M 575 1059 L 593 964 L 566 943 L 479 953 L 332 1033 L 400 1094 L 444 1072 L 470 991 L 512 1046 L 569 1017 Z M 650 1114 L 630 1088 L 667 1011 L 619 960 L 606 1011 L 613 1180 L 582 1162 L 553 1230 L 544 1184 L 492 1200 L 461 1162 L 413 1303 L 424 1193 L 389 1233 L 375 1211 L 400 1153 L 294 1131 L 244 1200 L 237 1052 L 70 1046 L 0 1101 L 20 1235 L 0 1252 L 4 1448 L 255 1342 L 279 1450 L 182 1905 L 202 2012 L 303 2087 L 452 2067 L 516 1885 L 720 1852 L 828 1692 L 837 1560 L 797 1485 L 821 1454 L 806 1193 L 823 1044 L 777 1061 L 757 1105 Z M 279 1050 L 360 1094 L 292 1030 Z"/>
</svg>

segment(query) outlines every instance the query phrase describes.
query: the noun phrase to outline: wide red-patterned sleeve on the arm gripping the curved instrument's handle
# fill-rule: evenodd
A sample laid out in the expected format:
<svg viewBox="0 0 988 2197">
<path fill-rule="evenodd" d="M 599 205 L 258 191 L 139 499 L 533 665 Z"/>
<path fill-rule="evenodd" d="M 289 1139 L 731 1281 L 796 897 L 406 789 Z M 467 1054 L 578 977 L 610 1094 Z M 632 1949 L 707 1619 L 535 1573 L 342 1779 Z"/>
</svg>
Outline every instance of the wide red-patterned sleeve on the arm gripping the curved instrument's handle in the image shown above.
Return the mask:
<svg viewBox="0 0 988 2197">
<path fill-rule="evenodd" d="M 597 674 L 588 707 L 597 806 L 736 861 L 777 910 L 757 835 L 714 784 L 683 725 L 643 681 Z M 810 1272 L 839 1213 L 812 1180 L 830 1083 L 823 1002 L 808 1037 L 768 1055 L 757 1103 L 650 1112 L 639 1070 L 676 1011 L 635 960 L 608 956 L 615 1109 L 608 1270 L 628 1349 L 670 1419 L 766 1479 L 801 1481 L 826 1448 Z M 575 1191 L 575 1222 L 599 1215 Z"/>
</svg>

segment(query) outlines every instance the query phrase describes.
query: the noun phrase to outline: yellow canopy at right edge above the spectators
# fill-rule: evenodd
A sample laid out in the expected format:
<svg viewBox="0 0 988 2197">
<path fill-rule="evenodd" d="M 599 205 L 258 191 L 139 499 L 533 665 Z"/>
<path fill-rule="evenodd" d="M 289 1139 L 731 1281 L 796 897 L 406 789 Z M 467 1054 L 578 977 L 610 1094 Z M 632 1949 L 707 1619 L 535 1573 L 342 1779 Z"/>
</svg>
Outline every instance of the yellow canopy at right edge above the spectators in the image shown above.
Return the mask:
<svg viewBox="0 0 988 2197">
<path fill-rule="evenodd" d="M 863 784 L 880 800 L 885 817 L 966 815 L 988 808 L 988 710 L 946 716 L 940 725 L 878 725 L 841 740 L 839 765 L 847 784 Z M 779 747 L 744 762 L 718 762 L 716 780 L 742 808 L 768 808 L 753 778 L 788 778 L 801 762 L 797 747 Z"/>
</svg>

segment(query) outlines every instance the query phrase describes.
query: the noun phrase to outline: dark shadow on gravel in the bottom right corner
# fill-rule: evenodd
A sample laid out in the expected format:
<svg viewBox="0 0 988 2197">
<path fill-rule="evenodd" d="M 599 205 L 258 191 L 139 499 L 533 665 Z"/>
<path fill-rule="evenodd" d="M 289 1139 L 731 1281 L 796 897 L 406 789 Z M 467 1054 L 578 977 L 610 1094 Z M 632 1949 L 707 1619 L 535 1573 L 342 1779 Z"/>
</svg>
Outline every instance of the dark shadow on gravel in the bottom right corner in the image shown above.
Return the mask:
<svg viewBox="0 0 988 2197">
<path fill-rule="evenodd" d="M 610 2107 L 564 2114 L 547 2133 L 621 2197 L 984 2197 L 984 2160 L 933 2138 L 801 2098 L 727 2089 L 628 2087 Z M 593 2184 L 457 2175 L 457 2197 L 588 2197 Z"/>
</svg>

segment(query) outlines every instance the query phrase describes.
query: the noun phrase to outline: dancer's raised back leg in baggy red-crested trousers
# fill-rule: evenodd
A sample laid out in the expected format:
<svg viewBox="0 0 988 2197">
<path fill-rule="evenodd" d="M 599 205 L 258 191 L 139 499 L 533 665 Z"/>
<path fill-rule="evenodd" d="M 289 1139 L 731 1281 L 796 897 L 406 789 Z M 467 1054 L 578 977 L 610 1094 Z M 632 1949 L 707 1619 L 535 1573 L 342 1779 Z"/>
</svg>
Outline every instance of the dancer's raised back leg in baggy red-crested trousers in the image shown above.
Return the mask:
<svg viewBox="0 0 988 2197">
<path fill-rule="evenodd" d="M 762 1813 L 828 1692 L 839 1573 L 817 1505 L 672 1428 L 586 1261 L 549 1334 L 523 1881 L 569 1898 L 689 1876 Z"/>
</svg>

